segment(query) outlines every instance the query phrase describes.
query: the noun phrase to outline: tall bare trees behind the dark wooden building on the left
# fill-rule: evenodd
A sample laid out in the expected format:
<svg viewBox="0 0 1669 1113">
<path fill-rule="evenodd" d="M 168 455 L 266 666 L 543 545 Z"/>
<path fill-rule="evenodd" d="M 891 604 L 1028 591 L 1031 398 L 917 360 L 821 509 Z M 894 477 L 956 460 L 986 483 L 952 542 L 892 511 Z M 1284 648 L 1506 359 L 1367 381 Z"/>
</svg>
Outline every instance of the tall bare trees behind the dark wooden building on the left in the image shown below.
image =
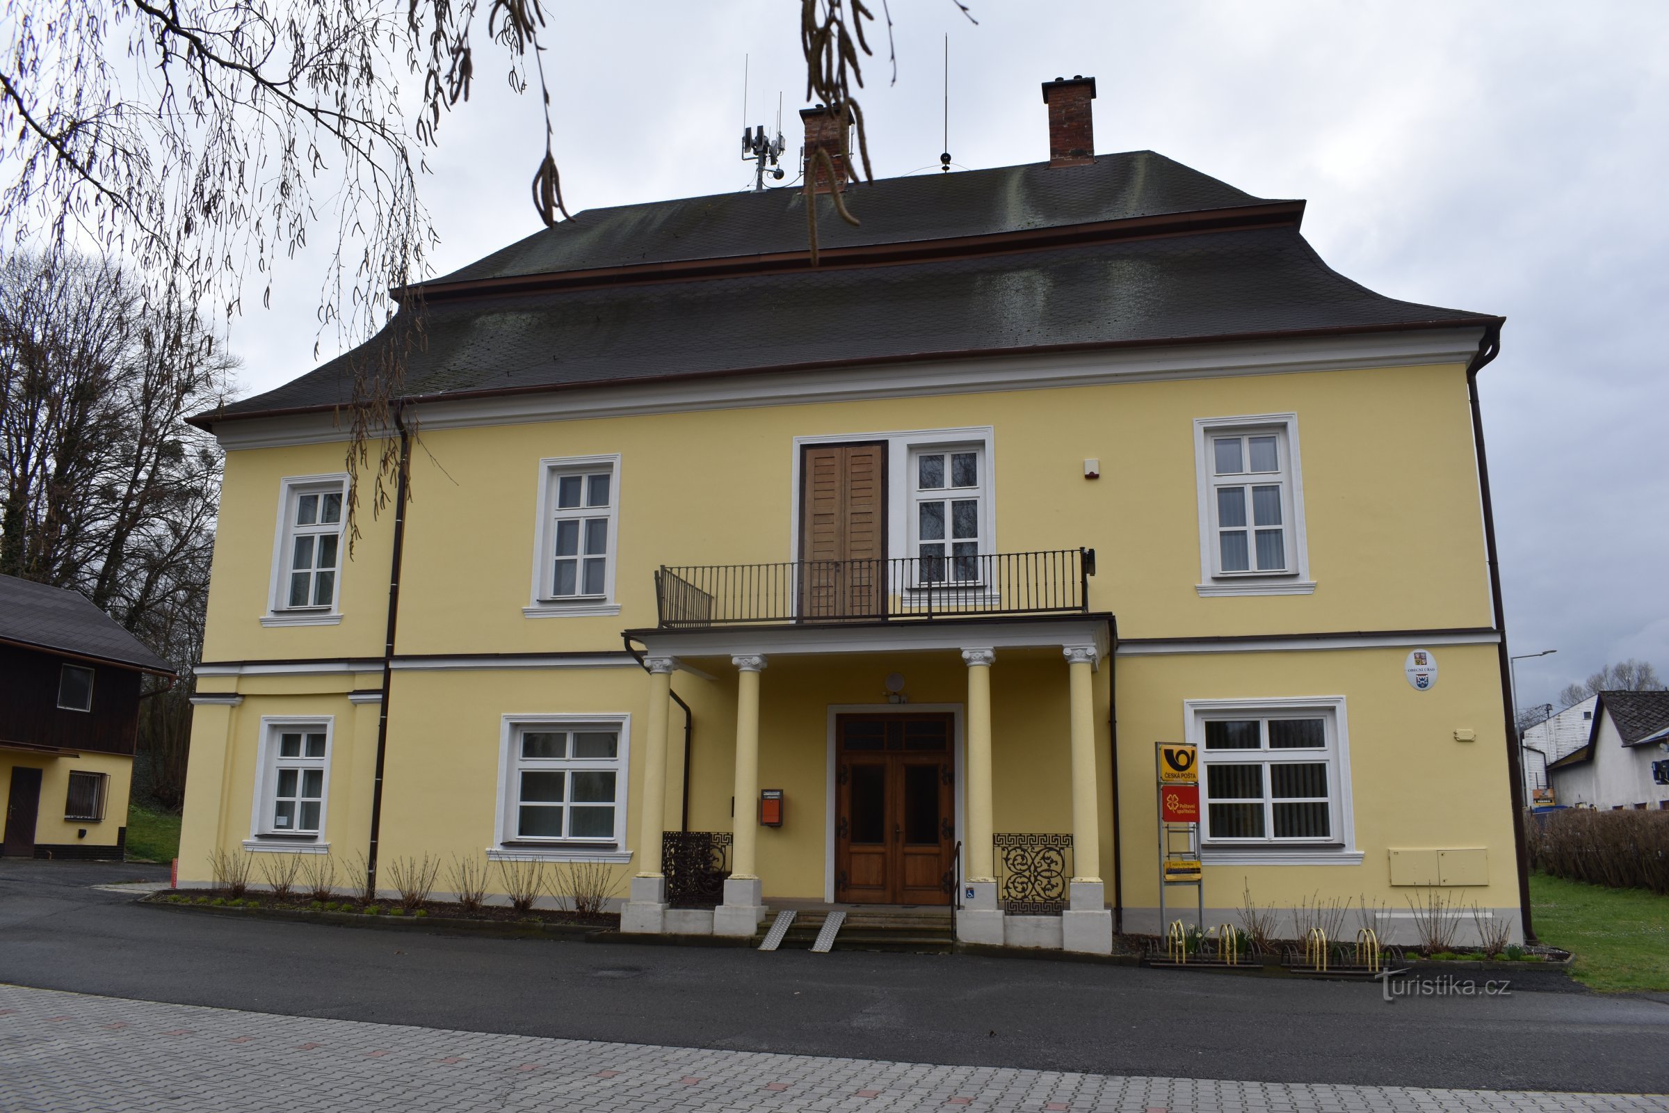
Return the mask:
<svg viewBox="0 0 1669 1113">
<path fill-rule="evenodd" d="M 185 415 L 234 360 L 189 307 L 60 254 L 0 264 L 0 572 L 80 591 L 174 662 L 202 656 L 220 451 Z M 142 704 L 145 783 L 177 808 L 190 684 Z"/>
</svg>

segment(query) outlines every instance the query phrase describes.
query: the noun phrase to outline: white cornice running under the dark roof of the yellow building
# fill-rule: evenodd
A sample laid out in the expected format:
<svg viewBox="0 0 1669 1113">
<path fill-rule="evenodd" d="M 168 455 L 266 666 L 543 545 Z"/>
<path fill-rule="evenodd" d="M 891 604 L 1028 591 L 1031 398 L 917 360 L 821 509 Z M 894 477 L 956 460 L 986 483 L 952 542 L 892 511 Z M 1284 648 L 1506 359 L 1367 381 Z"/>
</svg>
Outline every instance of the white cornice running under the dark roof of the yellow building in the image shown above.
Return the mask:
<svg viewBox="0 0 1669 1113">
<path fill-rule="evenodd" d="M 663 382 L 626 380 L 536 394 L 414 402 L 411 412 L 416 415 L 419 429 L 462 429 L 935 394 L 1041 390 L 1157 379 L 1217 379 L 1465 364 L 1477 354 L 1480 337 L 1480 327 L 1467 325 L 1347 337 L 868 364 Z M 347 441 L 349 431 L 337 424 L 335 414 L 327 412 L 227 421 L 215 427 L 215 436 L 222 447 L 237 451 Z"/>
</svg>

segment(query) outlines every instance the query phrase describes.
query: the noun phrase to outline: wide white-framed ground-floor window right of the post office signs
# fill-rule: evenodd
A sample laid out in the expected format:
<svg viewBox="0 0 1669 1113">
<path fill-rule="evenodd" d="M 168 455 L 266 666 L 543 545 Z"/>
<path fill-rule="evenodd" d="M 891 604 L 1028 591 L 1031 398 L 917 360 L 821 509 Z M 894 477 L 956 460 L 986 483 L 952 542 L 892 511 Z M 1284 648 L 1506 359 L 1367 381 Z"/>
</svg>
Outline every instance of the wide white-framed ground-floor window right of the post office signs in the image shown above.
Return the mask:
<svg viewBox="0 0 1669 1113">
<path fill-rule="evenodd" d="M 1342 696 L 1190 699 L 1213 861 L 1359 863 Z"/>
</svg>

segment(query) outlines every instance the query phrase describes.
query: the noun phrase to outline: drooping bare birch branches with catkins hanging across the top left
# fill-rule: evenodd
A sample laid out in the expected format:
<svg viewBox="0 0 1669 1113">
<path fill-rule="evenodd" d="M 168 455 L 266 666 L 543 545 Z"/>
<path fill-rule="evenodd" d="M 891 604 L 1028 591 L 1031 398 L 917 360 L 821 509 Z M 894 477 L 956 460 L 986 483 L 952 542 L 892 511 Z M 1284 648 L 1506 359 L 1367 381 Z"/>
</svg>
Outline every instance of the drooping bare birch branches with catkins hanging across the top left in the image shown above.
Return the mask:
<svg viewBox="0 0 1669 1113">
<path fill-rule="evenodd" d="M 873 13 L 863 0 L 801 0 L 798 15 L 808 98 L 850 112 L 866 152 L 853 90 Z M 274 267 L 322 237 L 315 354 L 325 335 L 352 347 L 399 322 L 394 342 L 352 369 L 352 542 L 361 472 L 374 512 L 391 497 L 399 449 L 386 434 L 422 342 L 409 292 L 436 244 L 417 189 L 424 152 L 469 98 L 482 37 L 511 88 L 539 88 L 532 204 L 547 225 L 567 217 L 542 2 L 12 0 L 0 25 L 0 164 L 17 170 L 0 190 L 0 235 L 37 250 L 97 244 L 135 270 L 130 292 L 152 309 L 214 305 L 227 317 L 242 310 L 247 280 L 267 304 Z M 890 13 L 886 28 L 891 40 Z M 856 177 L 850 157 L 845 174 Z M 809 235 L 814 254 L 814 215 Z"/>
</svg>

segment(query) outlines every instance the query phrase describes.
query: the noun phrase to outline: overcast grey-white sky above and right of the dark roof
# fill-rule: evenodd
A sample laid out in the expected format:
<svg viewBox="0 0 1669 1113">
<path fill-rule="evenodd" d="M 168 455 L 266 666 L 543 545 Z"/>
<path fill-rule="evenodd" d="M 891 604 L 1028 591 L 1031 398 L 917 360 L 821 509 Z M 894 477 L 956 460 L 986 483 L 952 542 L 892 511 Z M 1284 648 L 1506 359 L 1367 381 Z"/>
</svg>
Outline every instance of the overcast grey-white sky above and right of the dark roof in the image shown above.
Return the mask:
<svg viewBox="0 0 1669 1113">
<path fill-rule="evenodd" d="M 1482 394 L 1507 622 L 1515 654 L 1559 651 L 1519 666 L 1520 704 L 1619 657 L 1669 672 L 1669 5 L 970 3 L 978 25 L 893 0 L 898 82 L 878 33 L 863 97 L 878 177 L 936 165 L 950 35 L 956 164 L 1046 159 L 1038 83 L 1093 75 L 1097 150 L 1303 197 L 1305 235 L 1352 279 L 1504 314 Z M 547 0 L 569 207 L 748 185 L 744 55 L 748 120 L 773 123 L 781 92 L 796 149 L 798 7 Z M 537 105 L 489 47 L 476 68 L 429 159 L 439 272 L 537 230 Z M 244 392 L 312 365 L 317 262 L 234 322 Z"/>
</svg>

